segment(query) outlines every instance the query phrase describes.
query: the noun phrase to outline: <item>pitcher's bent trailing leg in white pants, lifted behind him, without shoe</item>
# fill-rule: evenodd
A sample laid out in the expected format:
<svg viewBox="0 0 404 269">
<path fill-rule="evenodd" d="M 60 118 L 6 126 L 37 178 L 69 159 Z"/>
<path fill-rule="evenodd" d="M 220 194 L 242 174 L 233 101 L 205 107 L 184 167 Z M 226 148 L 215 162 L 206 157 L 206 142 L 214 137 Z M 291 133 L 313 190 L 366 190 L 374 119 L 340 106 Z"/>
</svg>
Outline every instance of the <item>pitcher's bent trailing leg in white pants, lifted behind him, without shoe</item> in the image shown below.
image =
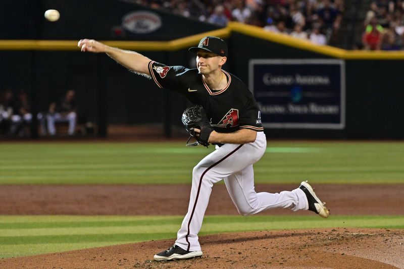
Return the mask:
<svg viewBox="0 0 404 269">
<path fill-rule="evenodd" d="M 234 205 L 243 216 L 270 208 L 308 209 L 306 195 L 299 188 L 280 193 L 257 193 L 252 165 L 228 176 L 224 182 Z"/>
</svg>

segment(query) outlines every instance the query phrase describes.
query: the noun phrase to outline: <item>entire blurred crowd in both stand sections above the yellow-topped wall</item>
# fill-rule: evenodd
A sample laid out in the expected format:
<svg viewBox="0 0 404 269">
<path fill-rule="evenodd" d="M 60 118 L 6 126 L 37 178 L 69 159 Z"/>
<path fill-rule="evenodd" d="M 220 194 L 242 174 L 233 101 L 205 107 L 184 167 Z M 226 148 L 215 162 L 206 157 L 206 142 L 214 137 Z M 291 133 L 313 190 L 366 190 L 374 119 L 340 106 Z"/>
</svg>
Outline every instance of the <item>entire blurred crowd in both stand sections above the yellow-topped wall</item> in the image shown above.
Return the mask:
<svg viewBox="0 0 404 269">
<path fill-rule="evenodd" d="M 263 27 L 316 44 L 337 37 L 345 11 L 344 0 L 132 0 L 185 17 L 220 26 L 229 21 Z M 404 48 L 404 1 L 372 2 L 358 48 L 398 50 Z M 372 18 L 375 18 L 372 20 Z"/>
</svg>

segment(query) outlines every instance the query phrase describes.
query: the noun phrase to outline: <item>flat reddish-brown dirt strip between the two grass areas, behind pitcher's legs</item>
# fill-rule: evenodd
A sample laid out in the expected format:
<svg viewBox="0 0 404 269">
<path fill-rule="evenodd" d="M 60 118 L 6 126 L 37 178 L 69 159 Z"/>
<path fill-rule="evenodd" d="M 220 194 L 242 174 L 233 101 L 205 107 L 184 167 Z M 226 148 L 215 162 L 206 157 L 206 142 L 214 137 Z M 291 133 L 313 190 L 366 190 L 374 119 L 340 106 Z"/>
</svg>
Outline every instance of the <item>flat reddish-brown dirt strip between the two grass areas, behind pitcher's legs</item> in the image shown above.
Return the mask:
<svg viewBox="0 0 404 269">
<path fill-rule="evenodd" d="M 404 185 L 315 185 L 331 214 L 404 214 Z M 256 186 L 256 191 L 279 192 L 296 185 Z M 184 215 L 190 185 L 76 185 L 0 188 L 0 214 L 123 214 Z M 207 214 L 238 214 L 223 184 L 213 188 Z M 274 209 L 260 214 L 308 214 Z"/>
</svg>

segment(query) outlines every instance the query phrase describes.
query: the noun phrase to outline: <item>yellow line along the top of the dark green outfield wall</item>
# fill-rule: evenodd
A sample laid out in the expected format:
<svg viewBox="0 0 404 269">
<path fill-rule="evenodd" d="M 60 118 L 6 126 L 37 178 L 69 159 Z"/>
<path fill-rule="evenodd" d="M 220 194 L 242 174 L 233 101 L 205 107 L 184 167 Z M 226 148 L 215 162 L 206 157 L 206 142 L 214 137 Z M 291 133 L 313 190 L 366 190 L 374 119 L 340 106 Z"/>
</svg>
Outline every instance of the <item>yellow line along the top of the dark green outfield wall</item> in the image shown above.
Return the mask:
<svg viewBox="0 0 404 269">
<path fill-rule="evenodd" d="M 230 22 L 226 28 L 170 41 L 101 41 L 111 46 L 136 51 L 173 51 L 196 45 L 202 37 L 207 35 L 227 38 L 231 36 L 232 32 L 339 59 L 404 60 L 404 51 L 345 50 L 328 45 L 315 45 L 310 41 L 300 40 L 285 34 L 268 32 L 261 27 L 236 22 Z M 77 42 L 78 40 L 0 40 L 0 50 L 75 51 L 79 49 Z"/>
</svg>

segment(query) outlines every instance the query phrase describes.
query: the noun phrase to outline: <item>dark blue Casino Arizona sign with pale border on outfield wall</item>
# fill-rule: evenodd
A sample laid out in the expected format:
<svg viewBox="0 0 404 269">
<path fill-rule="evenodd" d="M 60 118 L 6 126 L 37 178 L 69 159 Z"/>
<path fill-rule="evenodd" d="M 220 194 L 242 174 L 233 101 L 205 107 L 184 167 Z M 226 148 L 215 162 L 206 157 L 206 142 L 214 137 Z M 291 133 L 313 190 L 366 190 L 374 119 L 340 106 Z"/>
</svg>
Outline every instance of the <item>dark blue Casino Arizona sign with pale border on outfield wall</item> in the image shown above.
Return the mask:
<svg viewBox="0 0 404 269">
<path fill-rule="evenodd" d="M 345 127 L 342 60 L 250 60 L 249 89 L 266 128 Z"/>
</svg>

